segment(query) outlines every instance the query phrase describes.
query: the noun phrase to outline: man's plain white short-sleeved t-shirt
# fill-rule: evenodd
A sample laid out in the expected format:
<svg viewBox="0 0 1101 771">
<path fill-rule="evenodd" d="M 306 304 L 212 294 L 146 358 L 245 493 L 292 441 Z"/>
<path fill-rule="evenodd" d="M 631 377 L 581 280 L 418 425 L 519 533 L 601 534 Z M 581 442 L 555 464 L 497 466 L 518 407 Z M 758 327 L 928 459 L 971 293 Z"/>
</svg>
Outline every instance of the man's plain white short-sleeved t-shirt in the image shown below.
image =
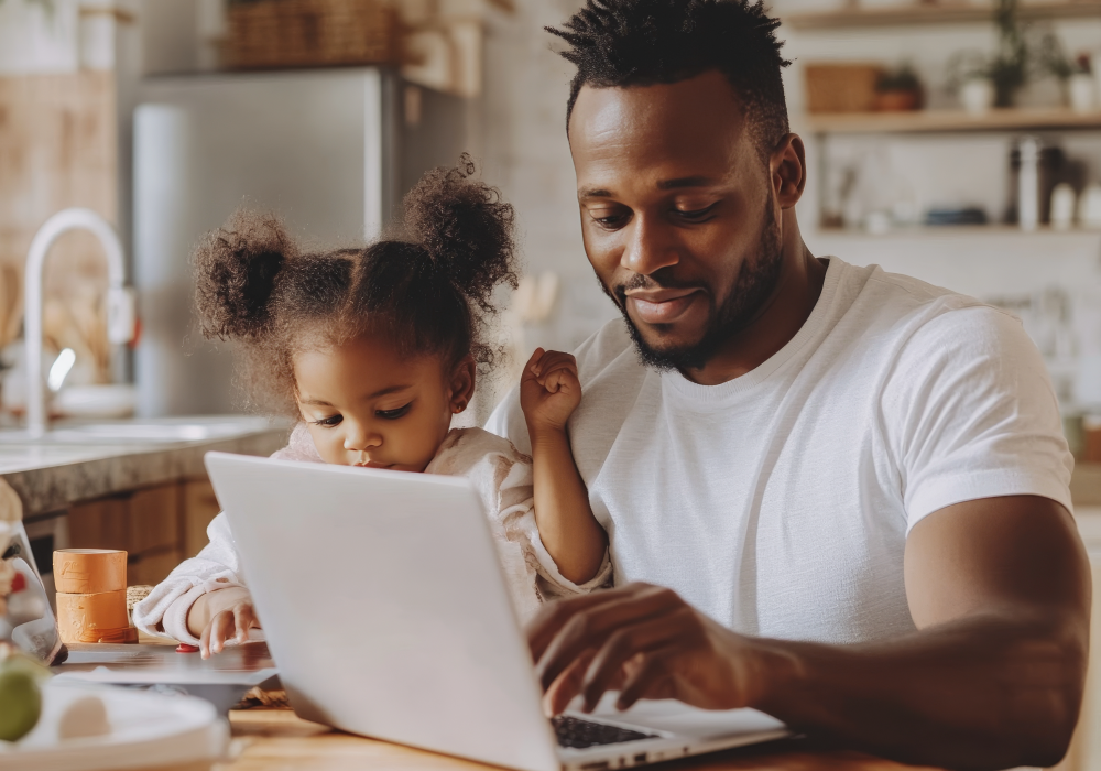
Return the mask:
<svg viewBox="0 0 1101 771">
<path fill-rule="evenodd" d="M 906 633 L 923 518 L 1009 495 L 1070 509 L 1073 460 L 1021 323 L 877 267 L 830 259 L 798 334 L 719 386 L 644 367 L 619 319 L 576 355 L 570 443 L 615 584 L 667 586 L 743 633 Z M 531 453 L 516 391 L 487 427 Z"/>
</svg>

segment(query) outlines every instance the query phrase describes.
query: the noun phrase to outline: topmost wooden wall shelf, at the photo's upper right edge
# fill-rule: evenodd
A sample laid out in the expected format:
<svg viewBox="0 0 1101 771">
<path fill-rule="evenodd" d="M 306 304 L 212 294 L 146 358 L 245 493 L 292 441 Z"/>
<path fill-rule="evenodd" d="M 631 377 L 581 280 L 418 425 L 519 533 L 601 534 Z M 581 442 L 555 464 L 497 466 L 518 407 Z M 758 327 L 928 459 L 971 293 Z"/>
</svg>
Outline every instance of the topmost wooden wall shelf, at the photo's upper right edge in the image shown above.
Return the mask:
<svg viewBox="0 0 1101 771">
<path fill-rule="evenodd" d="M 955 2 L 897 6 L 894 8 L 853 8 L 814 13 L 793 13 L 783 22 L 796 30 L 846 30 L 869 26 L 908 26 L 911 24 L 959 24 L 993 20 L 993 3 Z M 1022 3 L 1022 19 L 1101 19 L 1101 1 Z"/>
</svg>

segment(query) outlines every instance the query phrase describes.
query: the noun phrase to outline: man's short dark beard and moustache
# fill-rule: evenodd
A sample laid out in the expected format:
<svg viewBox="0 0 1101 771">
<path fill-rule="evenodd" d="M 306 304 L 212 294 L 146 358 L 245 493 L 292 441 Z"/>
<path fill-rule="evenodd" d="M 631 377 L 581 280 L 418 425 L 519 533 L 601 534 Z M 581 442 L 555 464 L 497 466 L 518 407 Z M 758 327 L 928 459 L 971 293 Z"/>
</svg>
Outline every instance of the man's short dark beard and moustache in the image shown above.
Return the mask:
<svg viewBox="0 0 1101 771">
<path fill-rule="evenodd" d="M 662 289 L 690 289 L 698 286 L 698 283 L 678 284 L 674 281 L 663 281 L 662 270 L 650 276 L 635 275 L 626 284 L 617 286 L 614 292 L 600 282 L 604 293 L 615 301 L 623 314 L 628 330 L 631 333 L 631 339 L 634 340 L 639 357 L 644 365 L 658 371 L 700 369 L 710 361 L 727 340 L 749 326 L 780 281 L 781 267 L 783 265 L 783 243 L 775 221 L 775 216 L 770 216 L 761 231 L 756 253 L 753 256 L 755 259 L 749 259 L 742 263 L 738 270 L 738 276 L 734 279 L 734 285 L 721 307 L 713 306 L 716 293 L 713 287 L 707 287 L 710 290 L 708 296 L 712 298 L 710 319 L 704 336 L 693 345 L 659 349 L 646 343 L 628 314 L 626 292 L 655 285 Z"/>
</svg>

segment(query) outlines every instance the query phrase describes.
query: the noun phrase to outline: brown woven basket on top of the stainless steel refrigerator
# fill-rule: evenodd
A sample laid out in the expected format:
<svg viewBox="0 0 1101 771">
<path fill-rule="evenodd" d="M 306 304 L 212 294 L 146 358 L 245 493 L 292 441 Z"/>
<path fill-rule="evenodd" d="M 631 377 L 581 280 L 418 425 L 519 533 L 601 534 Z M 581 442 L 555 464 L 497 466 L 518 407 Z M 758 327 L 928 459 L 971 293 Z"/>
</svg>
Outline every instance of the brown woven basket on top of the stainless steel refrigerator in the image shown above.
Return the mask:
<svg viewBox="0 0 1101 771">
<path fill-rule="evenodd" d="M 396 12 L 379 0 L 254 0 L 229 9 L 231 68 L 391 64 L 399 54 Z"/>
</svg>

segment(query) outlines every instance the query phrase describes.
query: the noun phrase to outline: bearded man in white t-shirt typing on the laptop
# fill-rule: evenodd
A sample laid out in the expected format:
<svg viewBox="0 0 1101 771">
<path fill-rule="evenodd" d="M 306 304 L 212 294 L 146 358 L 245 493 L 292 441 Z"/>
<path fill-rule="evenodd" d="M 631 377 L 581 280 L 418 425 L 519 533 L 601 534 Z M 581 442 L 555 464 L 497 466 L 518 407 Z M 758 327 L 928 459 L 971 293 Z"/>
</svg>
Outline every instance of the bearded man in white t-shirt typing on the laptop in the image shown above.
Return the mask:
<svg viewBox="0 0 1101 771">
<path fill-rule="evenodd" d="M 777 24 L 589 0 L 550 30 L 623 321 L 577 351 L 568 426 L 617 588 L 530 628 L 549 707 L 619 689 L 911 762 L 1055 763 L 1090 588 L 1044 362 L 1007 314 L 808 251 Z M 530 449 L 515 393 L 490 428 Z"/>
</svg>

